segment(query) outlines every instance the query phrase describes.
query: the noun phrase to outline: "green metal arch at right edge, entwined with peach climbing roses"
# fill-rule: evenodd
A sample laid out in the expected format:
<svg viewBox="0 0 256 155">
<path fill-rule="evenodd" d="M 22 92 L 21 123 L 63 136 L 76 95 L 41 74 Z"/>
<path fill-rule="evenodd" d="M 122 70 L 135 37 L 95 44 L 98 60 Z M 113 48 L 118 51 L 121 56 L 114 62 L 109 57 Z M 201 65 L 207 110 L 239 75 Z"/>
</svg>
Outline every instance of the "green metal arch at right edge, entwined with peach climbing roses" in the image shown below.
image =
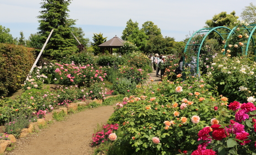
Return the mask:
<svg viewBox="0 0 256 155">
<path fill-rule="evenodd" d="M 235 35 L 235 30 L 237 29 L 238 26 L 235 26 L 231 32 L 229 33 L 228 37 L 227 37 L 227 40 L 229 40 L 230 36 L 231 35 Z M 246 44 L 246 47 L 245 47 L 245 55 L 247 55 L 247 52 L 248 52 L 248 49 L 249 49 L 249 45 L 250 45 L 250 41 L 252 40 L 252 44 L 255 45 L 255 41 L 252 37 L 253 33 L 255 32 L 256 30 L 256 24 L 251 24 L 251 25 L 248 25 L 248 26 L 243 26 L 244 27 L 244 30 L 247 30 L 248 33 L 249 33 L 249 38 L 247 39 L 247 43 Z M 250 27 L 250 28 L 249 28 Z M 224 49 L 226 49 L 228 45 L 228 42 L 226 42 L 226 44 L 224 45 Z M 242 54 L 244 53 L 243 51 L 243 47 L 241 47 L 241 50 L 242 50 Z M 225 50 L 226 51 L 226 50 Z M 225 52 L 223 52 L 223 54 L 225 54 Z M 254 55 L 256 55 L 256 50 L 254 49 Z"/>
</svg>

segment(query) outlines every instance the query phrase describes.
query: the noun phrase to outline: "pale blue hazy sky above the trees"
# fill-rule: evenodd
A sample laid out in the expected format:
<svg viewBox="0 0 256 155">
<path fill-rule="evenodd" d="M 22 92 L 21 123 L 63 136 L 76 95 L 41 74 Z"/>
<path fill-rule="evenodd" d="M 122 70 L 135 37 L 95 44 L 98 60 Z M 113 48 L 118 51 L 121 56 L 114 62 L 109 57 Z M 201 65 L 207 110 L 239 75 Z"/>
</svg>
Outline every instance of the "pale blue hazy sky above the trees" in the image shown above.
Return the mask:
<svg viewBox="0 0 256 155">
<path fill-rule="evenodd" d="M 42 0 L 0 0 L 0 25 L 11 29 L 13 37 L 23 31 L 26 39 L 37 32 Z M 85 37 L 103 33 L 107 40 L 115 35 L 121 38 L 126 22 L 132 19 L 139 27 L 153 21 L 163 36 L 176 41 L 205 26 L 205 21 L 222 11 L 235 10 L 240 15 L 253 0 L 73 0 L 69 18 L 78 19 Z M 254 3 L 256 5 L 256 3 Z"/>
</svg>

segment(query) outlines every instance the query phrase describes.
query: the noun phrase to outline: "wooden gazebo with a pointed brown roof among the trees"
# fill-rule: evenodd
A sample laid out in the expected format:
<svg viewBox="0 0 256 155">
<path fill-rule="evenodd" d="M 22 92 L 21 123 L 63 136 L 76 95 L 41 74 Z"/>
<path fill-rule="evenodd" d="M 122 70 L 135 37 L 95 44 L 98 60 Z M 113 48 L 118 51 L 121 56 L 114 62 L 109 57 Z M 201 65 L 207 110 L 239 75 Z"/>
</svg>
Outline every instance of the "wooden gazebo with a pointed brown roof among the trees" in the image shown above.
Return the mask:
<svg viewBox="0 0 256 155">
<path fill-rule="evenodd" d="M 105 43 L 99 45 L 102 50 L 102 53 L 105 53 L 105 50 L 108 50 L 110 54 L 113 52 L 113 48 L 120 48 L 123 46 L 123 40 L 118 38 L 117 35 L 114 36 L 111 40 L 107 40 Z"/>
</svg>

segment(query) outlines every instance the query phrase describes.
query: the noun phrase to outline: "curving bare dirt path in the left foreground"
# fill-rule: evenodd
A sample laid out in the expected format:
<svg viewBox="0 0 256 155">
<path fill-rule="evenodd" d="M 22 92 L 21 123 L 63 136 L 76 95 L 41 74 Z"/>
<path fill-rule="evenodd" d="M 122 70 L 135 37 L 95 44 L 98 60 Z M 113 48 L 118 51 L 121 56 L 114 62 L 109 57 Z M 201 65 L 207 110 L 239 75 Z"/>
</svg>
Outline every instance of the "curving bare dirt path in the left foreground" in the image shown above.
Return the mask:
<svg viewBox="0 0 256 155">
<path fill-rule="evenodd" d="M 65 121 L 21 138 L 16 149 L 5 155 L 92 155 L 91 136 L 97 124 L 106 123 L 113 113 L 113 105 L 85 110 Z"/>
</svg>

